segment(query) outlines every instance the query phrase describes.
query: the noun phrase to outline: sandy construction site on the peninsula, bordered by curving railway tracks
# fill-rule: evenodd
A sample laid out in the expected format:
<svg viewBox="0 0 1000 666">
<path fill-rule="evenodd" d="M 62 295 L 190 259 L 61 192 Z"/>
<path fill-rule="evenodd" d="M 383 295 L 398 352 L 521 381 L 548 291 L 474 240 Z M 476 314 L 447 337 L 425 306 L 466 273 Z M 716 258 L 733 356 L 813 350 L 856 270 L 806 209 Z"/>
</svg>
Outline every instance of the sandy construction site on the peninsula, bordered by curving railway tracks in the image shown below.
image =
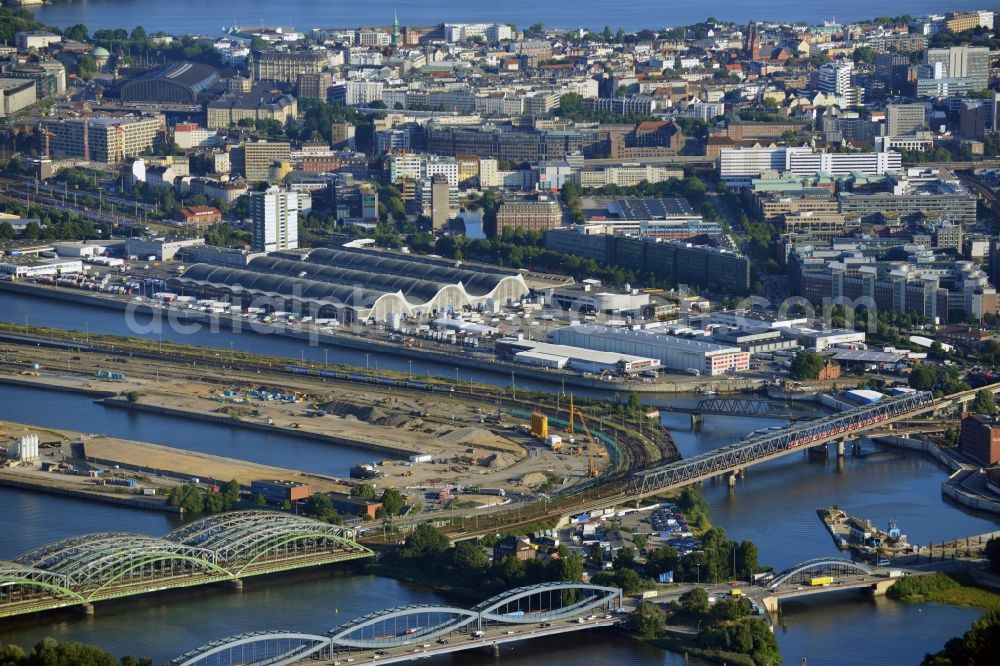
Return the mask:
<svg viewBox="0 0 1000 666">
<path fill-rule="evenodd" d="M 321 367 L 303 374 L 301 367 L 293 372 L 280 364 L 261 366 L 259 359 L 253 361 L 256 369 L 247 372 L 234 367 L 233 359 L 228 364 L 218 357 L 215 363 L 182 360 L 177 349 L 154 354 L 119 348 L 112 354 L 110 347 L 15 344 L 8 336 L 0 345 L 0 380 L 87 394 L 112 409 L 283 433 L 331 450 L 362 449 L 371 452 L 370 462 L 353 466 L 349 474 L 306 474 L 291 458 L 287 464 L 258 465 L 75 429 L 48 434 L 53 455 L 63 456 L 49 462 L 73 467 L 75 456 L 121 469 L 162 470 L 164 487 L 169 486 L 167 477 L 203 483 L 236 479 L 241 485 L 255 478 L 280 478 L 308 483 L 313 492 L 341 493 L 370 483 L 380 490 L 396 488 L 414 503 L 428 494 L 444 497 L 428 502 L 430 511 L 454 508 L 448 495 L 455 489 L 465 493 L 463 508 L 486 506 L 502 501 L 498 497 L 570 490 L 637 461 L 670 455 L 669 437 L 654 422 L 644 435 L 626 435 L 631 425 L 621 427 L 623 422 L 606 407 L 580 405 L 572 395 L 542 402 L 523 391 L 515 398 L 495 387 L 471 384 L 424 382 L 407 388 L 404 382 L 386 385 L 374 376 L 370 382 L 356 376 L 337 380 L 331 373 L 321 375 Z M 2 432 L 4 441 L 18 427 L 11 424 L 8 430 Z M 74 450 L 73 442 L 85 451 Z M 48 469 L 52 471 L 8 462 L 3 477 L 35 484 L 80 483 L 72 475 L 59 475 L 58 465 Z"/>
</svg>

